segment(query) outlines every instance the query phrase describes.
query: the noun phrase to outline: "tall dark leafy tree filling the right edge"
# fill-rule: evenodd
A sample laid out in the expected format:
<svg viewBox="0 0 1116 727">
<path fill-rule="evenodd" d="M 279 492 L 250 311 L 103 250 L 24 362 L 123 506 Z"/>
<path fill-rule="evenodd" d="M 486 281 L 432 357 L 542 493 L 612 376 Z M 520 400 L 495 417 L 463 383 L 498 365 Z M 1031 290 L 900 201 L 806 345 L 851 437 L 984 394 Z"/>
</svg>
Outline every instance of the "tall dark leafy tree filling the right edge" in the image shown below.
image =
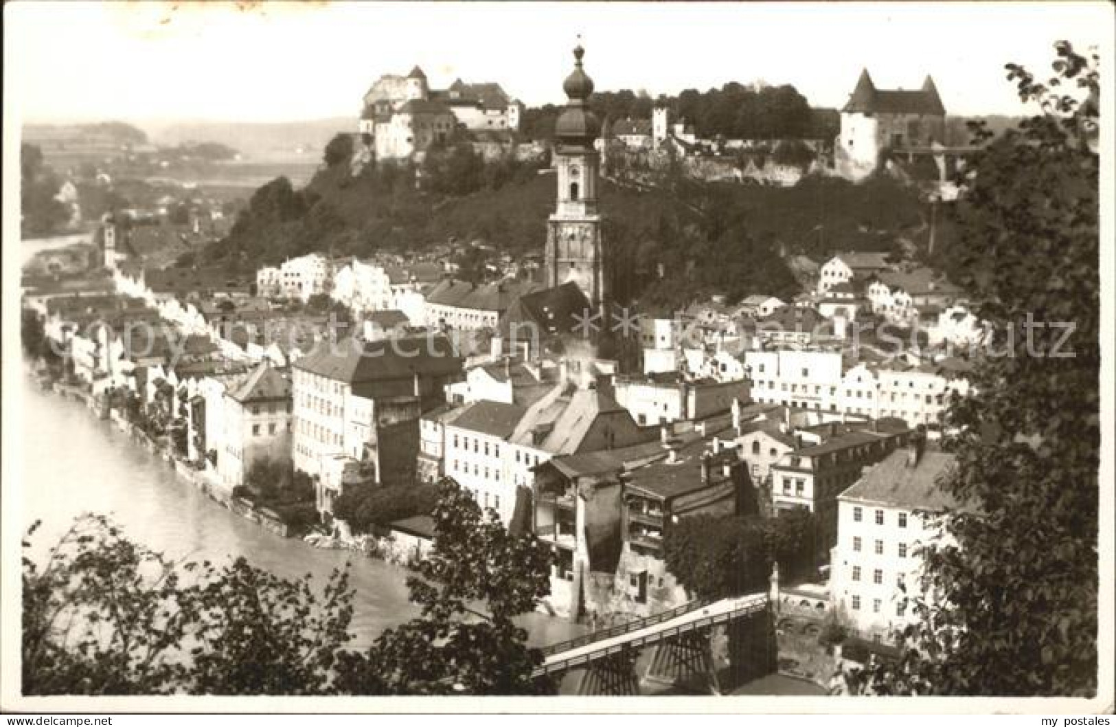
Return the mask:
<svg viewBox="0 0 1116 727">
<path fill-rule="evenodd" d="M 1041 111 L 989 144 L 965 179 L 961 283 L 993 324 L 998 355 L 977 361 L 974 393 L 947 412 L 958 466 L 942 486 L 963 508 L 942 522 L 952 543 L 922 553 L 936 597 L 914 599 L 921 620 L 896 664 L 852 675 L 863 691 L 1096 691 L 1098 59 L 1055 48 L 1047 84 L 1007 66 Z M 1028 331 L 1031 316 L 1055 325 Z M 1072 326 L 1066 342 L 1057 322 Z"/>
</svg>

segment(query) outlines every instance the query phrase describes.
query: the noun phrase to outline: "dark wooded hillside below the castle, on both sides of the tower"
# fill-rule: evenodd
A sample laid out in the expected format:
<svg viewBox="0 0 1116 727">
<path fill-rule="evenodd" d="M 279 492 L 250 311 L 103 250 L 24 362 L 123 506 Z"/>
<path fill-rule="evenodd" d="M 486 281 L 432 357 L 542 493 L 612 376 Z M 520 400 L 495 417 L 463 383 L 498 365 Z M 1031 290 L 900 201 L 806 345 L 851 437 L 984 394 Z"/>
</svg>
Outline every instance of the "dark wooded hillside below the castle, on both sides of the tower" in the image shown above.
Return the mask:
<svg viewBox="0 0 1116 727">
<path fill-rule="evenodd" d="M 481 241 L 512 255 L 539 254 L 554 209 L 549 170 L 516 165 L 494 175 L 480 164 L 475 191 L 448 194 L 431 168 L 417 190 L 410 165 L 367 166 L 357 175 L 347 157 L 302 190 L 279 178 L 257 190 L 205 261 L 250 272 L 288 257 L 321 251 L 367 257 L 419 252 L 448 241 Z M 485 183 L 492 178 L 497 181 Z M 498 179 L 499 178 L 499 179 Z M 793 188 L 664 180 L 637 189 L 604 181 L 605 241 L 614 256 L 619 300 L 676 306 L 721 293 L 797 291 L 783 256 L 820 259 L 835 250 L 899 249 L 899 238 L 925 237 L 925 210 L 914 191 L 888 178 L 852 184 L 807 178 Z"/>
</svg>

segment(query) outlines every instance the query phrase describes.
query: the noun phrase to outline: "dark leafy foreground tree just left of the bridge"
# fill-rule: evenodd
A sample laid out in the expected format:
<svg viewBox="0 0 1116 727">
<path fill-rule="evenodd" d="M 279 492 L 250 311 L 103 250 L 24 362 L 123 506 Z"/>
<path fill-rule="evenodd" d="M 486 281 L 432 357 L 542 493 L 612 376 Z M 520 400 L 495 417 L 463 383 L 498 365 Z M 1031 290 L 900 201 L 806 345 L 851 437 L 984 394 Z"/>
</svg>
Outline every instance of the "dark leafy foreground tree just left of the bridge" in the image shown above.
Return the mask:
<svg viewBox="0 0 1116 727">
<path fill-rule="evenodd" d="M 385 631 L 365 653 L 341 654 L 338 688 L 371 695 L 552 692 L 549 680 L 531 678 L 542 654 L 527 647 L 527 632 L 514 623 L 550 592 L 549 547 L 533 535 L 509 534 L 494 510 L 482 513 L 452 479 L 439 492 L 434 547 L 407 578 L 421 615 Z"/>
</svg>

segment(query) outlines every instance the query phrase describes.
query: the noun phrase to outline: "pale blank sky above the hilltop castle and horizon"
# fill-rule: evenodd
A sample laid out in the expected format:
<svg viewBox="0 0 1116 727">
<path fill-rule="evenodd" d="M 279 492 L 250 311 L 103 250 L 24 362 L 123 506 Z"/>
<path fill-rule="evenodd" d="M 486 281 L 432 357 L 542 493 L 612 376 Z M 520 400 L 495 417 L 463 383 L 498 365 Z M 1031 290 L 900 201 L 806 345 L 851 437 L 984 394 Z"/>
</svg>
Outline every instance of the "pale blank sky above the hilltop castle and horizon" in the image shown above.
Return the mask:
<svg viewBox="0 0 1116 727">
<path fill-rule="evenodd" d="M 355 116 L 379 74 L 415 64 L 433 87 L 460 76 L 528 105 L 561 103 L 578 34 L 600 90 L 761 78 L 840 106 L 866 66 L 879 87 L 932 74 L 949 113 L 1013 114 L 1004 63 L 1046 73 L 1055 40 L 1110 44 L 1113 28 L 1100 2 L 27 2 L 4 13 L 4 103 L 38 122 Z"/>
</svg>

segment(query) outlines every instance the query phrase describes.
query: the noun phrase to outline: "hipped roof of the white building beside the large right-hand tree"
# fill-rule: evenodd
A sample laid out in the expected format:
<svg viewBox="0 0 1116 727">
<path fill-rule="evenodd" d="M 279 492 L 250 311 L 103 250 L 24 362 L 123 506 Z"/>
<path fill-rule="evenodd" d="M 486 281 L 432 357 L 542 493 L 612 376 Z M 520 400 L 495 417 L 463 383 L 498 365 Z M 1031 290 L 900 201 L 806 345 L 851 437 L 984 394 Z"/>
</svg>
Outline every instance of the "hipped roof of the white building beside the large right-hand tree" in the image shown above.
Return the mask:
<svg viewBox="0 0 1116 727">
<path fill-rule="evenodd" d="M 910 453 L 910 448 L 892 452 L 841 492 L 840 499 L 906 509 L 955 507 L 956 501 L 936 484 L 953 469 L 956 458 L 946 452 L 923 452 L 917 465 L 911 467 Z"/>
</svg>

